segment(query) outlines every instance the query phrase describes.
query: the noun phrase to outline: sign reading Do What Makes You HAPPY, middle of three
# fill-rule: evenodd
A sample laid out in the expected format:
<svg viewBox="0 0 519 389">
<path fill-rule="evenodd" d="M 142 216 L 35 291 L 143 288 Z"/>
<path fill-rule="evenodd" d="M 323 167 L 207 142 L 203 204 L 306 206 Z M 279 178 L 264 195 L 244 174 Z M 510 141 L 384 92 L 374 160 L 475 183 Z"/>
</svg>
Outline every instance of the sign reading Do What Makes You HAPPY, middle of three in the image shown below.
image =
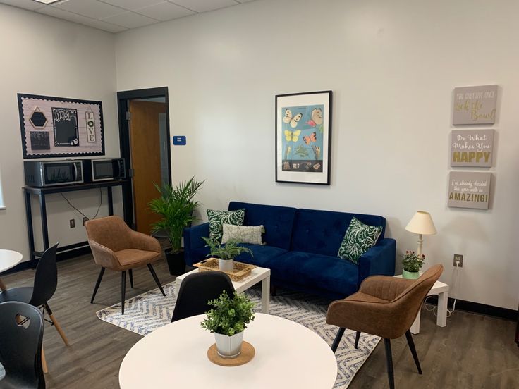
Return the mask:
<svg viewBox="0 0 519 389">
<path fill-rule="evenodd" d="M 452 130 L 451 166 L 489 168 L 494 154 L 494 130 Z"/>
</svg>

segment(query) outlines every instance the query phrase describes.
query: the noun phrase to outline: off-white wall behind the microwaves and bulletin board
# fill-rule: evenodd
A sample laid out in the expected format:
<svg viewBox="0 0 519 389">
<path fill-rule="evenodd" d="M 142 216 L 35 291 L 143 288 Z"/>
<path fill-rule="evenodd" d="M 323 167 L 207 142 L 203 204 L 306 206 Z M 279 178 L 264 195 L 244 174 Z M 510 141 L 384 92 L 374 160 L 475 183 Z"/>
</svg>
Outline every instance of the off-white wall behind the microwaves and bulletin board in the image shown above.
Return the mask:
<svg viewBox="0 0 519 389">
<path fill-rule="evenodd" d="M 25 223 L 23 154 L 16 94 L 42 94 L 103 102 L 107 156 L 119 155 L 114 35 L 65 20 L 0 5 L 0 173 L 6 209 L 0 210 L 0 247 L 29 259 Z M 99 205 L 96 190 L 66 196 L 91 217 Z M 114 190 L 120 213 L 120 190 Z M 108 214 L 104 206 L 99 215 Z M 85 240 L 82 216 L 60 195 L 47 197 L 49 240 L 61 246 Z M 39 207 L 33 202 L 37 249 L 41 249 Z M 76 228 L 68 227 L 75 218 Z"/>
</svg>

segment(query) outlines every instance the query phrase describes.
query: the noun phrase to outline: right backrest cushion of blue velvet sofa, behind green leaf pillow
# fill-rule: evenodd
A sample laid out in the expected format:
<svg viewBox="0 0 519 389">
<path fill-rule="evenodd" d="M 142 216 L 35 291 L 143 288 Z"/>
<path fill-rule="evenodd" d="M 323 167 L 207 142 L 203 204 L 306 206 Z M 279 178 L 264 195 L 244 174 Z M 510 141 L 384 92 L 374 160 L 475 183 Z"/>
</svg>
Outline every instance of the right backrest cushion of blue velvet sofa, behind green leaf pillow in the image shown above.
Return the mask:
<svg viewBox="0 0 519 389">
<path fill-rule="evenodd" d="M 370 226 L 381 226 L 382 232 L 378 240 L 384 237 L 386 219 L 382 216 L 298 209 L 295 214 L 291 249 L 336 257 L 353 216 Z"/>
</svg>

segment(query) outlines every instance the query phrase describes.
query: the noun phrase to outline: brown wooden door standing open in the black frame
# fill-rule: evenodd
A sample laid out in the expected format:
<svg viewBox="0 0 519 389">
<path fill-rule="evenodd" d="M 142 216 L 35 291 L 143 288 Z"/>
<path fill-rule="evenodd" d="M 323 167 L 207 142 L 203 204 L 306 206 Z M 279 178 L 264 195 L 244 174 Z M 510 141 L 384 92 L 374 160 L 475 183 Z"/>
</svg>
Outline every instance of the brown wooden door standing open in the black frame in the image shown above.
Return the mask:
<svg viewBox="0 0 519 389">
<path fill-rule="evenodd" d="M 158 197 L 154 183 L 161 185 L 159 113 L 166 112 L 165 103 L 130 101 L 130 153 L 133 168 L 133 204 L 135 226 L 149 234 L 159 217 L 148 209 L 149 200 Z"/>
</svg>

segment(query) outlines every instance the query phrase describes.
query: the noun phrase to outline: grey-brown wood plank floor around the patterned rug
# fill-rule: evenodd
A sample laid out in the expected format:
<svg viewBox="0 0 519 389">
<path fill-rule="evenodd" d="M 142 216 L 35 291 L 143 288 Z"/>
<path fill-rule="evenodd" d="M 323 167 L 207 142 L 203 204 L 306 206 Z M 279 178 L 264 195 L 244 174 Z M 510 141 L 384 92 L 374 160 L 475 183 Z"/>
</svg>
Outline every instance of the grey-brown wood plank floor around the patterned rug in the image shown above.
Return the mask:
<svg viewBox="0 0 519 389">
<path fill-rule="evenodd" d="M 141 336 L 100 321 L 95 312 L 120 299 L 120 273 L 106 271 L 95 304 L 90 304 L 99 273 L 92 257 L 60 261 L 58 267 L 58 290 L 50 306 L 71 346 L 63 345 L 56 329 L 46 326 L 47 388 L 118 388 L 121 361 Z M 164 259 L 154 268 L 161 283 L 174 280 Z M 8 288 L 26 286 L 32 285 L 32 274 L 26 270 L 2 279 Z M 135 270 L 134 279 L 134 290 L 127 282 L 127 298 L 155 288 L 147 268 Z M 513 342 L 514 333 L 511 321 L 463 311 L 456 311 L 447 326 L 440 328 L 432 312 L 422 309 L 421 333 L 414 339 L 424 373 L 416 372 L 405 337 L 393 340 L 396 388 L 519 388 L 519 347 Z M 349 388 L 388 387 L 384 343 L 380 342 Z"/>
</svg>

